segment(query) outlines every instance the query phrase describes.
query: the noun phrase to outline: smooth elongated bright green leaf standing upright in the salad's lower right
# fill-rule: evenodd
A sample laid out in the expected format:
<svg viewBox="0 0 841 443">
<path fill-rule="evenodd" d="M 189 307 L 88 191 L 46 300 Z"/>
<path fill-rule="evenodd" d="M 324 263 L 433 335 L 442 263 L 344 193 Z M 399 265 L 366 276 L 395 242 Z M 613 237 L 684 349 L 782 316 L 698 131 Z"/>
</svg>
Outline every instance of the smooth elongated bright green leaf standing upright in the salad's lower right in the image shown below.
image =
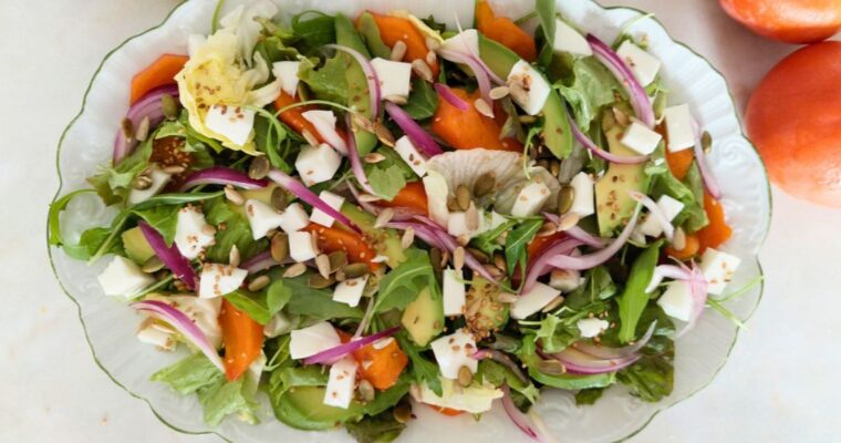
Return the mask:
<svg viewBox="0 0 841 443">
<path fill-rule="evenodd" d="M 651 297 L 645 288 L 654 276 L 654 267 L 660 258 L 661 241 L 647 247 L 631 267 L 631 275 L 625 289 L 617 299 L 620 331 L 619 339 L 623 343 L 633 341 L 636 337 L 636 324 L 640 321 Z"/>
</svg>

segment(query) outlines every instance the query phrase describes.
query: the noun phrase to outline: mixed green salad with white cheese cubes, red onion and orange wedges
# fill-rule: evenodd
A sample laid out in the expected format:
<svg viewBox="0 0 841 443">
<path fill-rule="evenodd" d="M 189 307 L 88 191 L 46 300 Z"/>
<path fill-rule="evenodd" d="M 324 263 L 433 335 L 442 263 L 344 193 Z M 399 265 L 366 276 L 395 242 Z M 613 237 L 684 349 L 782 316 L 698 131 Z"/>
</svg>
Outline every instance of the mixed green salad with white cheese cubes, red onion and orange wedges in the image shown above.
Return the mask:
<svg viewBox="0 0 841 443">
<path fill-rule="evenodd" d="M 264 395 L 360 442 L 497 400 L 540 441 L 544 390 L 669 395 L 675 339 L 729 315 L 739 265 L 674 66 L 553 0 L 455 27 L 280 12 L 215 17 L 138 72 L 112 161 L 51 208 L 50 244 L 107 262 L 139 341 L 188 356 L 152 380 L 211 426 L 266 420 Z M 64 237 L 82 194 L 116 216 Z"/>
</svg>

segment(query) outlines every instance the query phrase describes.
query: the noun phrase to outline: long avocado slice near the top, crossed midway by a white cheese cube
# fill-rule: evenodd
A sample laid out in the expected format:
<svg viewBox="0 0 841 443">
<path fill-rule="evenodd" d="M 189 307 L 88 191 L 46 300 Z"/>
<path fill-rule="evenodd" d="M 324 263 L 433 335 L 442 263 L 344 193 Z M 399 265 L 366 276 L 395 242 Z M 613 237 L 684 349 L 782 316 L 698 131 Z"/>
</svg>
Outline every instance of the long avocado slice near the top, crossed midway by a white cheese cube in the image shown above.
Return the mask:
<svg viewBox="0 0 841 443">
<path fill-rule="evenodd" d="M 479 56 L 485 64 L 502 79 L 508 78 L 520 56 L 508 48 L 479 35 Z M 567 120 L 567 104 L 558 91 L 552 90 L 543 105 L 543 142 L 558 158 L 567 158 L 572 152 L 572 131 Z"/>
</svg>

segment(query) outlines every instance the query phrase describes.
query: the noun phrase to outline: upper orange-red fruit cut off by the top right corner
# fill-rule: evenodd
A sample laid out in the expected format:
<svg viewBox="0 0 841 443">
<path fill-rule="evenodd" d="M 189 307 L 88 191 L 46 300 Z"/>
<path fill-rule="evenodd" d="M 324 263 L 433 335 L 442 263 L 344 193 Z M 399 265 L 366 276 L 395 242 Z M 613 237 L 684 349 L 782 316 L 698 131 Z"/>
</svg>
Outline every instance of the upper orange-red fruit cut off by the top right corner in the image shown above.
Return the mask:
<svg viewBox="0 0 841 443">
<path fill-rule="evenodd" d="M 841 29 L 841 0 L 719 0 L 727 13 L 759 35 L 813 43 Z"/>
</svg>

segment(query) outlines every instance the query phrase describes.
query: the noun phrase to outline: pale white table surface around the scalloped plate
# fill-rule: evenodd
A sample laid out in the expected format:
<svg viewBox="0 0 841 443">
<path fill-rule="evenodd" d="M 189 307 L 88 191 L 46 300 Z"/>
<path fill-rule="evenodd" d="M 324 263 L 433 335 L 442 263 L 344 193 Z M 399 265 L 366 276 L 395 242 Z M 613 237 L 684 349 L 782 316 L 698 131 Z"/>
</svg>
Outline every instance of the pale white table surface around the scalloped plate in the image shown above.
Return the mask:
<svg viewBox="0 0 841 443">
<path fill-rule="evenodd" d="M 467 0 L 459 0 L 467 1 Z M 174 0 L 0 0 L 0 441 L 215 442 L 181 435 L 94 363 L 53 280 L 44 224 L 55 145 L 105 53 L 157 24 Z M 744 109 L 793 47 L 730 21 L 715 0 L 624 0 L 655 12 L 717 65 Z M 841 210 L 773 192 L 765 299 L 715 382 L 633 442 L 837 441 Z"/>
</svg>

